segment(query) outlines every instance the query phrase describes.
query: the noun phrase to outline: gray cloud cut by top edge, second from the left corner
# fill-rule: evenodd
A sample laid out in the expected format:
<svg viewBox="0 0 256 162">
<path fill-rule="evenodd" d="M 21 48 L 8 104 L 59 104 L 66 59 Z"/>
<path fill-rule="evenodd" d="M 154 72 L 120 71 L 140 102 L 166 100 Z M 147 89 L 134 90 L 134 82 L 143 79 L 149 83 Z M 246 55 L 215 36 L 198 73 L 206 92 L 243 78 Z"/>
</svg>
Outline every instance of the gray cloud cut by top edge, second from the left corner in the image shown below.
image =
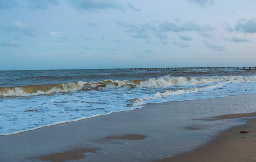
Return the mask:
<svg viewBox="0 0 256 162">
<path fill-rule="evenodd" d="M 47 9 L 48 5 L 58 5 L 57 0 L 27 0 L 27 7 L 30 9 Z"/>
</svg>

